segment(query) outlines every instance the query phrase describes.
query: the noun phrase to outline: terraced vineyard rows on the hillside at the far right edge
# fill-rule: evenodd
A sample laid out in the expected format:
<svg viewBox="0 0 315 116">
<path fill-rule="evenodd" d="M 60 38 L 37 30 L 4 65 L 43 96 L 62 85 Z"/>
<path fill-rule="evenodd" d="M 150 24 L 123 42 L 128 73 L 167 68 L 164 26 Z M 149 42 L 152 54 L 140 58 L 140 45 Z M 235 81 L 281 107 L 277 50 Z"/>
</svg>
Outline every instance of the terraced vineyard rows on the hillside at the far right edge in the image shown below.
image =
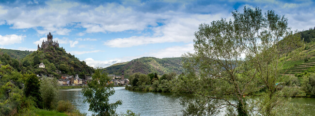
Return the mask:
<svg viewBox="0 0 315 116">
<path fill-rule="evenodd" d="M 314 72 L 315 70 L 315 58 L 312 58 L 306 62 L 303 62 L 301 64 L 296 64 L 293 67 L 286 70 L 284 73 L 286 74 L 295 74 L 295 73 L 303 73 L 305 71 L 307 72 Z"/>
</svg>

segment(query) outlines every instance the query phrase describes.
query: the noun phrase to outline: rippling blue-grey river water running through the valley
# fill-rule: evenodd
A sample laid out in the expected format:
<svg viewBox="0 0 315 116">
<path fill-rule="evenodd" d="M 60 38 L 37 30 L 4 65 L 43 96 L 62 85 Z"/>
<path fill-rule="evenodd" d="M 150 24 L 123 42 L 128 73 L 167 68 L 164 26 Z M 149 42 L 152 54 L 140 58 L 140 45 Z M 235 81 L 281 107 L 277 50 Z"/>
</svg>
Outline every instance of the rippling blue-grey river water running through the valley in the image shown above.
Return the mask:
<svg viewBox="0 0 315 116">
<path fill-rule="evenodd" d="M 125 87 L 114 87 L 115 94 L 110 96 L 110 103 L 121 100 L 122 105 L 116 108 L 116 112 L 126 113 L 131 110 L 140 113 L 141 116 L 180 116 L 183 106 L 180 100 L 172 93 L 129 91 Z M 70 101 L 81 113 L 91 116 L 93 113 L 88 111 L 89 104 L 83 103 L 84 97 L 81 88 L 61 89 L 60 100 Z M 315 116 L 315 98 L 293 98 L 292 102 L 302 103 L 305 113 Z"/>
</svg>

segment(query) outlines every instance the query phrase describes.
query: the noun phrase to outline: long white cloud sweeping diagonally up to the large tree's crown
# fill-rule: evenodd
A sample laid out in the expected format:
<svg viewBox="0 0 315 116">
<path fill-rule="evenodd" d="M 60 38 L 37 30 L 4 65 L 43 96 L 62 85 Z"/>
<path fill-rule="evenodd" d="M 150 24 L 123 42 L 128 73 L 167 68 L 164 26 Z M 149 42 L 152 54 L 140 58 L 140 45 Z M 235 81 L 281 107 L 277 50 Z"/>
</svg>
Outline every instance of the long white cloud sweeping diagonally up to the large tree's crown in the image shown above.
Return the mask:
<svg viewBox="0 0 315 116">
<path fill-rule="evenodd" d="M 226 17 L 224 14 L 192 14 L 178 16 L 165 22 L 160 27 L 155 27 L 153 36 L 132 36 L 129 38 L 117 38 L 105 42 L 110 47 L 132 47 L 149 43 L 171 43 L 171 42 L 192 42 L 194 32 L 198 30 L 199 24 L 209 23 L 212 20 L 219 20 Z"/>
</svg>

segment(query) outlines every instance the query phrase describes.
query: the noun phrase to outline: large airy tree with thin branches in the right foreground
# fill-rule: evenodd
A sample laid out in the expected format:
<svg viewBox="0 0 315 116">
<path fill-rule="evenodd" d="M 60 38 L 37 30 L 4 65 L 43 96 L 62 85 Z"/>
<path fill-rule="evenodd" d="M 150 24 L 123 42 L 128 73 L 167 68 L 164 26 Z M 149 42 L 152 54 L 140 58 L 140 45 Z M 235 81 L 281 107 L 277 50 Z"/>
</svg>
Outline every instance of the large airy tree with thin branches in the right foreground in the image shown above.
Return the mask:
<svg viewBox="0 0 315 116">
<path fill-rule="evenodd" d="M 198 98 L 182 101 L 187 106 L 184 115 L 216 115 L 225 107 L 238 116 L 251 115 L 255 108 L 262 115 L 279 115 L 275 110 L 283 105 L 276 91 L 276 82 L 281 81 L 281 48 L 298 47 L 299 37 L 289 30 L 287 19 L 274 11 L 263 15 L 259 8 L 244 8 L 243 13 L 232 14 L 233 21 L 201 24 L 195 32 L 195 53 L 184 55 L 187 72 L 175 80 L 175 90 L 187 90 Z M 260 90 L 261 86 L 267 90 Z M 257 105 L 247 104 L 259 91 L 267 99 L 258 97 Z"/>
</svg>

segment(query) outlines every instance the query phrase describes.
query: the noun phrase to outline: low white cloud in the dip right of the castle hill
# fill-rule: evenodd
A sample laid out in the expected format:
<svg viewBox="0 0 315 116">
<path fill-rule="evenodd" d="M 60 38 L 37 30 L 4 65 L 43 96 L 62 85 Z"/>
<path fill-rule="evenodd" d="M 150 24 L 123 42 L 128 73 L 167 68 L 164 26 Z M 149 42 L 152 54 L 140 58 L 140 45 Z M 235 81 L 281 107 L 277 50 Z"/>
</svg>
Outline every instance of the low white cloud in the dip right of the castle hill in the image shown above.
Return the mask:
<svg viewBox="0 0 315 116">
<path fill-rule="evenodd" d="M 86 58 L 83 61 L 85 61 L 87 65 L 92 66 L 94 68 L 96 68 L 96 67 L 106 68 L 106 67 L 109 67 L 110 65 L 115 64 L 115 63 L 126 62 L 126 61 L 120 60 L 120 59 L 94 60 L 93 58 Z"/>
</svg>

